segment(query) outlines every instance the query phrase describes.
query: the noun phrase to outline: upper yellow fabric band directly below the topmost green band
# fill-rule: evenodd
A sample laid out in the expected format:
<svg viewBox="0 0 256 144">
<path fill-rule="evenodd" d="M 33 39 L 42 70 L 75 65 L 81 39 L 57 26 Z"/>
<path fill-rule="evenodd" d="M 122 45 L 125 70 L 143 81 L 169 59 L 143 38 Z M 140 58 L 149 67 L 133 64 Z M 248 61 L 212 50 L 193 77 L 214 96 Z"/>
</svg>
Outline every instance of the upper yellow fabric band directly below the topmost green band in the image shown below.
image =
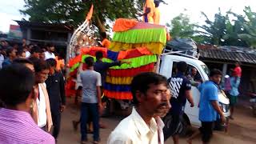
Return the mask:
<svg viewBox="0 0 256 144">
<path fill-rule="evenodd" d="M 130 50 L 137 47 L 146 47 L 153 54 L 162 54 L 164 46 L 160 42 L 151 43 L 122 43 L 122 42 L 111 42 L 110 50 L 120 51 L 120 50 Z"/>
</svg>

